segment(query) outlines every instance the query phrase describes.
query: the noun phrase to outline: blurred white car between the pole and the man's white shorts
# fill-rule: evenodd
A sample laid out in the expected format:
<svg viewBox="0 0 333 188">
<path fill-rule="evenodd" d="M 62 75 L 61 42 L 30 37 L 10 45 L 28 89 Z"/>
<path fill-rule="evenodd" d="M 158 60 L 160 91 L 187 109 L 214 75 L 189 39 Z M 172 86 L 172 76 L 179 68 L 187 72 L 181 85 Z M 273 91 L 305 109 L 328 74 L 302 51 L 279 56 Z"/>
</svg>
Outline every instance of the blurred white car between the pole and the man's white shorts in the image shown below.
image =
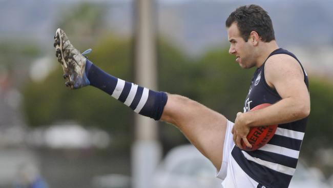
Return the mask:
<svg viewBox="0 0 333 188">
<path fill-rule="evenodd" d="M 157 168 L 154 188 L 221 188 L 214 165 L 192 145 L 173 148 Z"/>
</svg>

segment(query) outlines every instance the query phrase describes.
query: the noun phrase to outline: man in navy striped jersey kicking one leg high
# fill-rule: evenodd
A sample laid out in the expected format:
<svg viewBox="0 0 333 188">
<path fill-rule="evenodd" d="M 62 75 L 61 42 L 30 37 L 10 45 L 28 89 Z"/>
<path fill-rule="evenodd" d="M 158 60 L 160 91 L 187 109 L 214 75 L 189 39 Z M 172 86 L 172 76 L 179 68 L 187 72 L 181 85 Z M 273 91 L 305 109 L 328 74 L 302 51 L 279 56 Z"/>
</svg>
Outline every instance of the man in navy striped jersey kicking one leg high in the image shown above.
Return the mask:
<svg viewBox="0 0 333 188">
<path fill-rule="evenodd" d="M 235 123 L 189 98 L 113 77 L 75 49 L 61 29 L 54 47 L 66 86 L 94 86 L 140 115 L 174 124 L 214 164 L 224 187 L 288 187 L 310 112 L 307 74 L 293 53 L 279 48 L 272 21 L 260 6 L 237 8 L 225 25 L 230 54 L 242 68 L 257 68 Z M 249 111 L 262 103 L 272 105 Z M 278 128 L 266 145 L 242 150 L 241 140 L 251 147 L 246 139 L 250 127 L 272 124 Z"/>
</svg>

